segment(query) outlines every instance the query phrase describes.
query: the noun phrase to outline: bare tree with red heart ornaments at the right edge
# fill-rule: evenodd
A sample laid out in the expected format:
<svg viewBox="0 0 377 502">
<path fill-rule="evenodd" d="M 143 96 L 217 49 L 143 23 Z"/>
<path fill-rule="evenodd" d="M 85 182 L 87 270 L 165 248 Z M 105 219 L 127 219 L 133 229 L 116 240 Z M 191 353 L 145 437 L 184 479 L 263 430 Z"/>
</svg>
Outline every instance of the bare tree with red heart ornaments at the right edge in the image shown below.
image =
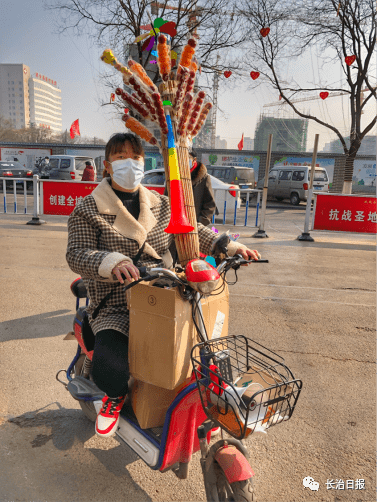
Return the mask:
<svg viewBox="0 0 377 502">
<path fill-rule="evenodd" d="M 249 66 L 264 76 L 278 91 L 281 99 L 300 117 L 332 130 L 341 141 L 346 155 L 343 192 L 351 193 L 354 160 L 361 141 L 377 121 L 363 120 L 363 110 L 377 99 L 376 68 L 372 55 L 376 46 L 376 6 L 374 0 L 242 0 L 239 13 L 244 16 L 245 32 L 252 54 Z M 269 34 L 260 30 L 269 28 Z M 317 49 L 326 64 L 341 65 L 345 85 L 326 82 L 318 86 L 298 83 L 294 76 L 283 80 L 288 61 L 307 57 L 310 73 L 310 51 Z M 354 56 L 354 57 L 352 57 Z M 350 59 L 351 57 L 351 59 Z M 373 72 L 374 70 L 374 72 Z M 289 80 L 287 82 L 287 80 Z M 308 93 L 342 92 L 349 97 L 350 145 L 337 127 L 305 113 L 297 105 Z"/>
</svg>

